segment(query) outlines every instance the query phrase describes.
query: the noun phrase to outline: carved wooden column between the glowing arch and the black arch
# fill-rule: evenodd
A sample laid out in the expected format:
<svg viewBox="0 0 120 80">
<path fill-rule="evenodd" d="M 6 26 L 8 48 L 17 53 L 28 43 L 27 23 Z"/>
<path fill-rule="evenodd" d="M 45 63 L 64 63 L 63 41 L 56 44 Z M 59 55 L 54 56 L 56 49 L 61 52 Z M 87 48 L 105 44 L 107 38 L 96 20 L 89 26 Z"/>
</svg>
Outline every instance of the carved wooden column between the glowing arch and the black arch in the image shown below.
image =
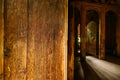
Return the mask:
<svg viewBox="0 0 120 80">
<path fill-rule="evenodd" d="M 105 10 L 101 10 L 99 36 L 99 58 L 105 59 Z"/>
</svg>

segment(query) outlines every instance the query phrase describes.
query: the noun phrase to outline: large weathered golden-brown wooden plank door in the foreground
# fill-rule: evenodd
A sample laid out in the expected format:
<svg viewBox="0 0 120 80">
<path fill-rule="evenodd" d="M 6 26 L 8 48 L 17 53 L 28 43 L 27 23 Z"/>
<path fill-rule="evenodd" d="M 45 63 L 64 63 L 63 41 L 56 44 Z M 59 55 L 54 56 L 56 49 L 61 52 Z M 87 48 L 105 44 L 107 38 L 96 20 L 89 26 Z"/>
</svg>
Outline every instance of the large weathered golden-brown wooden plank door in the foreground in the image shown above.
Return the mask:
<svg viewBox="0 0 120 80">
<path fill-rule="evenodd" d="M 67 79 L 67 0 L 5 0 L 5 80 Z"/>
</svg>

